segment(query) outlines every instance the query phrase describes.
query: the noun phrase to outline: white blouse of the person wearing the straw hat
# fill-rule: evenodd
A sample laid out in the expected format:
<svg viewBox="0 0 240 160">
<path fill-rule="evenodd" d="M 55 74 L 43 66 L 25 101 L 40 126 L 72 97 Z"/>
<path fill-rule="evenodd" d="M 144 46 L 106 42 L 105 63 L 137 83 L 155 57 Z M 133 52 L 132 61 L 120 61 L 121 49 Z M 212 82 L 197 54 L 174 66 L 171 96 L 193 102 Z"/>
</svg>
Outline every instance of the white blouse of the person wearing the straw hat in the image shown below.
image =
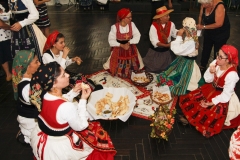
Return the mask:
<svg viewBox="0 0 240 160">
<path fill-rule="evenodd" d="M 176 38 L 178 30 L 175 27 L 175 24 L 171 22 L 171 29 L 170 29 L 170 34 L 168 36 L 168 43 L 171 42 L 171 37 Z M 162 24 L 162 27 L 165 27 L 165 24 Z M 158 34 L 157 34 L 157 29 L 151 25 L 150 31 L 149 31 L 149 37 L 152 45 L 157 48 L 157 43 L 159 42 L 158 40 Z"/>
</svg>

